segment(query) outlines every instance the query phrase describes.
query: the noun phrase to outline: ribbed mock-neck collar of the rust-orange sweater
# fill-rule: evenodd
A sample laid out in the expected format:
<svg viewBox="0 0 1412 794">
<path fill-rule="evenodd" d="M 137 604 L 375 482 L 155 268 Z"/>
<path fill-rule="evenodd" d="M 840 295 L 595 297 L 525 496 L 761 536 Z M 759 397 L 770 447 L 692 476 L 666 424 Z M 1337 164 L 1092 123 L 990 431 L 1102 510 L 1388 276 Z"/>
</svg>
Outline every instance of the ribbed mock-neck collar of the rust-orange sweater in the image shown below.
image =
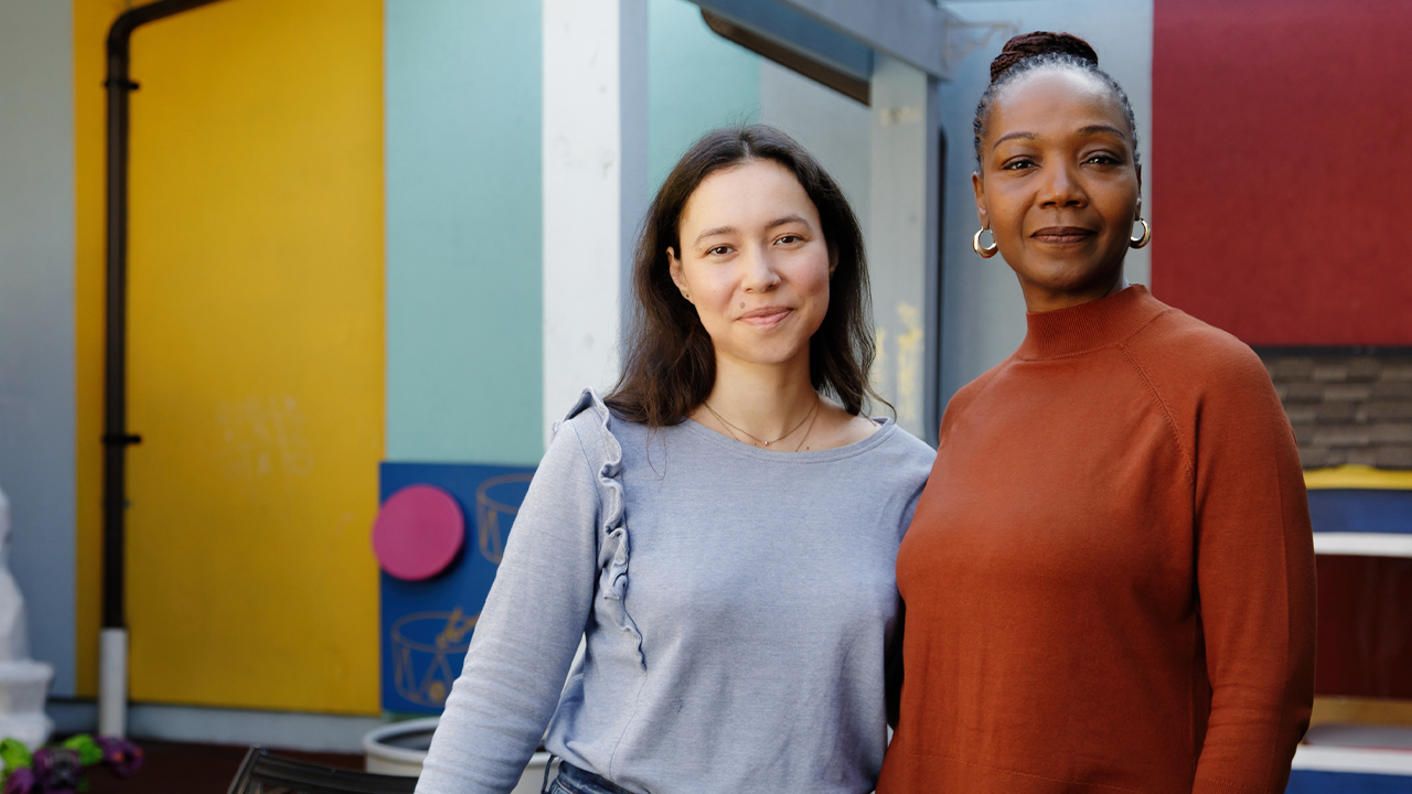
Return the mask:
<svg viewBox="0 0 1412 794">
<path fill-rule="evenodd" d="M 1029 331 L 1015 356 L 1024 360 L 1055 359 L 1117 345 L 1165 311 L 1168 307 L 1147 287 L 1134 284 L 1077 307 L 1027 312 Z"/>
</svg>

